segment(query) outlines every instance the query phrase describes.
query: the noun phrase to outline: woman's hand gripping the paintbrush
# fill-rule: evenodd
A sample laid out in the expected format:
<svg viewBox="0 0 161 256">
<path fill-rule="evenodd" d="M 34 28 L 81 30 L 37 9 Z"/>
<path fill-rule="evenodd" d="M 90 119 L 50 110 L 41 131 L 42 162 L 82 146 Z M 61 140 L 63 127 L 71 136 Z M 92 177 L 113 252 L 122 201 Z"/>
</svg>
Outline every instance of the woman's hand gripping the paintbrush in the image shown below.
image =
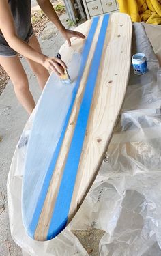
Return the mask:
<svg viewBox="0 0 161 256">
<path fill-rule="evenodd" d="M 64 74 L 64 70 L 67 69 L 67 66 L 65 65 L 65 63 L 57 57 L 50 58 L 50 57 L 44 56 L 44 61 L 42 65 L 47 70 L 53 71 L 58 76 L 61 76 L 62 74 Z"/>
</svg>

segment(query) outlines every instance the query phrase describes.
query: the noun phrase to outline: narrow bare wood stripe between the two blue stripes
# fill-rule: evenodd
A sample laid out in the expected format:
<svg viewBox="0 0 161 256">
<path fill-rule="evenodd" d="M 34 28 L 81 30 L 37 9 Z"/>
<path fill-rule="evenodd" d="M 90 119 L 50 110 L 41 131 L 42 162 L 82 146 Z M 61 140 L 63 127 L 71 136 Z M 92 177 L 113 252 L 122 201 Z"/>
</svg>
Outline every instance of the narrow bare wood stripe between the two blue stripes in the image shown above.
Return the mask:
<svg viewBox="0 0 161 256">
<path fill-rule="evenodd" d="M 42 213 L 40 214 L 37 229 L 35 230 L 35 236 L 34 236 L 35 240 L 36 239 L 46 240 L 46 236 L 48 234 L 50 219 L 52 218 L 53 209 L 55 207 L 55 201 L 57 199 L 57 194 L 59 192 L 59 186 L 61 184 L 63 169 L 65 167 L 66 158 L 68 156 L 68 150 L 70 148 L 70 143 L 72 141 L 72 136 L 74 133 L 76 119 L 78 117 L 78 112 L 79 112 L 79 109 L 81 106 L 81 99 L 83 97 L 83 91 L 85 89 L 85 84 L 86 84 L 87 77 L 89 74 L 89 68 L 91 66 L 91 60 L 92 60 L 93 53 L 96 48 L 96 42 L 98 40 L 98 35 L 100 32 L 101 25 L 102 25 L 102 17 L 100 18 L 100 20 L 98 22 L 96 33 L 94 35 L 93 42 L 91 45 L 91 50 L 89 52 L 89 57 L 87 59 L 87 64 L 85 66 L 85 70 L 83 73 L 83 78 L 81 79 L 80 87 L 78 89 L 78 94 L 76 95 L 76 100 L 74 102 L 74 107 L 72 109 L 72 114 L 71 114 L 70 121 L 68 124 L 68 129 L 65 132 L 65 137 L 63 140 L 61 151 L 59 153 L 59 157 L 57 159 L 57 164 L 56 164 L 55 170 L 53 172 L 53 177 L 50 182 L 50 186 L 48 188 L 48 194 L 44 201 L 44 207 L 42 209 Z M 88 28 L 88 30 L 89 30 L 89 28 Z M 41 237 L 41 234 L 42 234 L 42 237 Z"/>
</svg>

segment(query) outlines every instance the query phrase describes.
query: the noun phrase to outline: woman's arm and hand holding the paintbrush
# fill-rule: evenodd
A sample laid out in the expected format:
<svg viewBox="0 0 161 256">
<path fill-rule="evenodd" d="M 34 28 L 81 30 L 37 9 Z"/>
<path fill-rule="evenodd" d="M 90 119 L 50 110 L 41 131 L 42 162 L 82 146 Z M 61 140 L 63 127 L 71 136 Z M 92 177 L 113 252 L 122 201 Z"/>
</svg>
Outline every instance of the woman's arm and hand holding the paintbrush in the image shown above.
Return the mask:
<svg viewBox="0 0 161 256">
<path fill-rule="evenodd" d="M 14 27 L 14 20 L 12 18 L 12 13 L 8 5 L 8 0 L 0 1 L 0 30 L 3 33 L 5 40 L 8 42 L 9 46 L 20 53 L 21 55 L 31 59 L 35 62 L 42 64 L 48 70 L 52 70 L 56 74 L 63 74 L 63 69 L 58 63 L 65 69 L 65 63 L 60 59 L 53 57 L 47 57 L 42 53 L 38 53 L 31 46 L 29 46 L 23 40 L 20 40 L 16 34 L 16 29 Z"/>
</svg>

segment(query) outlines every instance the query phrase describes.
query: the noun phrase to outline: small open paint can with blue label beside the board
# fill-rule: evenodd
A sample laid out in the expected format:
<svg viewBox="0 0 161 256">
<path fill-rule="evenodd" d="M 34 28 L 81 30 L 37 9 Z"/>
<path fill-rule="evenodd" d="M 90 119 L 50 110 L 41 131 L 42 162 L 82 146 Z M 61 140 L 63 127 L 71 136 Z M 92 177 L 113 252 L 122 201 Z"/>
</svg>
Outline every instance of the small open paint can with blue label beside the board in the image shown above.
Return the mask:
<svg viewBox="0 0 161 256">
<path fill-rule="evenodd" d="M 132 56 L 132 66 L 134 68 L 134 74 L 147 73 L 147 58 L 144 53 L 136 53 Z"/>
</svg>

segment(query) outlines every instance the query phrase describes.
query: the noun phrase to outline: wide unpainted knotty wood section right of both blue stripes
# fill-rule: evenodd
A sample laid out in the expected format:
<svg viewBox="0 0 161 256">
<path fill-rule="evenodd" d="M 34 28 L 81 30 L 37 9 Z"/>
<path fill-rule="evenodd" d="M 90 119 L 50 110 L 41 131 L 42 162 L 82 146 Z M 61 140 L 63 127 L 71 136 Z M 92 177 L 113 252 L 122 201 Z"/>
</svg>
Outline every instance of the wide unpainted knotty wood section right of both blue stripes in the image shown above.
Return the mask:
<svg viewBox="0 0 161 256">
<path fill-rule="evenodd" d="M 113 14 L 109 20 L 68 223 L 93 184 L 110 142 L 128 83 L 131 35 L 130 18 Z"/>
</svg>

